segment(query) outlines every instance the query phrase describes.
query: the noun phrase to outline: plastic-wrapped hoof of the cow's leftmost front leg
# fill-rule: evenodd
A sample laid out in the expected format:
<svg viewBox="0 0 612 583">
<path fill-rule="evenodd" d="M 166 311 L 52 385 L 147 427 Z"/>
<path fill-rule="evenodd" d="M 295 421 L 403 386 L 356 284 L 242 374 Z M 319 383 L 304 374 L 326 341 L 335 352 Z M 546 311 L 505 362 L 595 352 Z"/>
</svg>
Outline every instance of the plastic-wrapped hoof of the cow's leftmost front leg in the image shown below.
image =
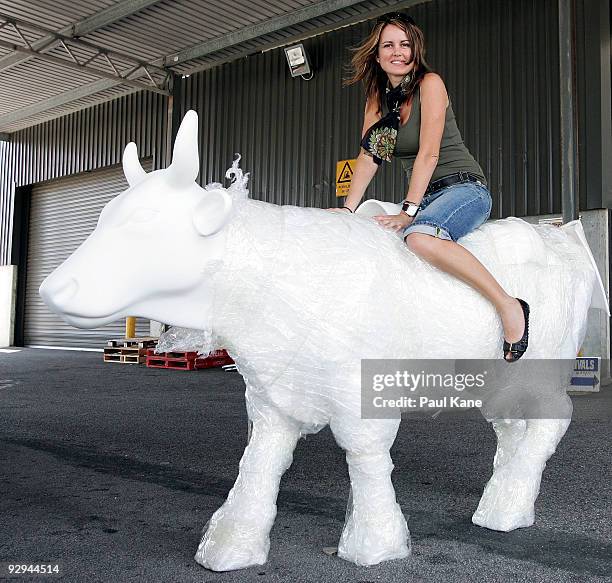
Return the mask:
<svg viewBox="0 0 612 583">
<path fill-rule="evenodd" d="M 235 571 L 263 565 L 268 558 L 267 533 L 240 522 L 219 520 L 206 531 L 195 554 L 197 563 L 211 571 Z"/>
</svg>

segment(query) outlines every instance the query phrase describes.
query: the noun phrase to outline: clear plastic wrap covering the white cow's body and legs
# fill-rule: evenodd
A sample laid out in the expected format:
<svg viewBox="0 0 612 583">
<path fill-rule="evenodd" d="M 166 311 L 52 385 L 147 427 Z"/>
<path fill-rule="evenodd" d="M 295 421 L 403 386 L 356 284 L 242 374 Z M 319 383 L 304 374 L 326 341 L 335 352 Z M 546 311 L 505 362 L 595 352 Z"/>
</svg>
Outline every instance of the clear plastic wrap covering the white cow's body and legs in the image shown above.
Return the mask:
<svg viewBox="0 0 612 583">
<path fill-rule="evenodd" d="M 509 293 L 530 303 L 525 358 L 574 358 L 582 343 L 596 276 L 576 229 L 579 224 L 560 229 L 507 219 L 462 241 Z M 397 423 L 360 418 L 360 360 L 500 358 L 502 328 L 495 310 L 472 288 L 413 255 L 394 234 L 359 216 L 242 201 L 226 230 L 211 322 L 247 382 L 250 418 L 270 432 L 277 414 L 296 422 L 301 434 L 330 424 L 347 451 L 353 499 L 339 556 L 361 565 L 405 557 L 408 530 L 388 458 Z M 567 421 L 528 423 L 533 437 L 522 439 L 516 456 L 495 470 L 476 524 L 512 530 L 533 523 L 541 472 Z M 287 436 L 290 443 L 294 439 Z M 539 451 L 541 446 L 546 447 Z M 262 467 L 269 463 L 266 458 Z M 285 467 L 277 463 L 275 476 Z M 270 500 L 276 481 L 273 488 Z M 254 502 L 260 492 L 259 482 L 239 478 L 196 555 L 203 565 L 226 570 L 261 562 L 274 510 L 271 502 Z M 245 524 L 249 515 L 234 510 L 235 500 L 251 501 L 261 515 Z M 219 558 L 212 549 L 226 540 L 226 523 L 235 554 Z M 245 549 L 252 549 L 249 557 Z"/>
</svg>

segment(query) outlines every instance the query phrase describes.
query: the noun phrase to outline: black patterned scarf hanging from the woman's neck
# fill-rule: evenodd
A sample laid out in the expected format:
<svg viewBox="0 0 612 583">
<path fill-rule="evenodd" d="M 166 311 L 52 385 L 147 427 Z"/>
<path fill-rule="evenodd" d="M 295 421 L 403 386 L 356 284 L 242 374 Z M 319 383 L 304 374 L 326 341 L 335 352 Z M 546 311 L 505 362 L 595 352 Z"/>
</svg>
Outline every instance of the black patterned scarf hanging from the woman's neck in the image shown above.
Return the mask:
<svg viewBox="0 0 612 583">
<path fill-rule="evenodd" d="M 395 142 L 400 122 L 400 107 L 408 95 L 408 85 L 412 81 L 412 71 L 408 73 L 397 87 L 387 87 L 386 100 L 389 113 L 373 124 L 366 132 L 361 147 L 372 155 L 374 162 L 380 166 L 391 162 L 395 151 Z"/>
</svg>

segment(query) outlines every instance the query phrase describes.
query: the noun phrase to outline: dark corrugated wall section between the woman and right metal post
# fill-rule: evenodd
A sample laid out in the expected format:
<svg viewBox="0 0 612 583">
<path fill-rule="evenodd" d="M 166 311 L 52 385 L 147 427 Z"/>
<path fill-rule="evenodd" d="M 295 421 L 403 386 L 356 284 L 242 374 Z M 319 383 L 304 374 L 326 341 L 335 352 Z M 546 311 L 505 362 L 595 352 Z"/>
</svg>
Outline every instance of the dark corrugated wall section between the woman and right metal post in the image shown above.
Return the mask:
<svg viewBox="0 0 612 583">
<path fill-rule="evenodd" d="M 557 0 L 454 1 L 414 13 L 489 178 L 492 216 L 560 212 Z"/>
</svg>

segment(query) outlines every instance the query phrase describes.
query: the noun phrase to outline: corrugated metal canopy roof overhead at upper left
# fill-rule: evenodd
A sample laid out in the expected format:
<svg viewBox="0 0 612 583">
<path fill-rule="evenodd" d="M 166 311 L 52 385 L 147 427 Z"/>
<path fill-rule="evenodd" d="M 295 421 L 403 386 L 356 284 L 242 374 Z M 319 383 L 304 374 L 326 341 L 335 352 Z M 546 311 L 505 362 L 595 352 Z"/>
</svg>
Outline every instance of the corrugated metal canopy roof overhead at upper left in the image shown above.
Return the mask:
<svg viewBox="0 0 612 583">
<path fill-rule="evenodd" d="M 168 71 L 191 74 L 419 1 L 426 0 L 0 0 L 0 15 L 66 36 L 80 26 L 85 32 L 81 40 L 129 57 L 113 58 L 121 74 L 133 69 L 135 61 L 159 67 L 169 62 Z M 30 43 L 42 42 L 45 36 L 26 25 L 20 30 Z M 265 33 L 252 38 L 253 30 Z M 0 29 L 0 41 L 23 45 L 11 26 Z M 204 55 L 202 43 L 208 43 Z M 173 55 L 193 47 L 198 47 L 197 58 L 185 56 L 173 64 Z M 69 59 L 57 44 L 40 50 Z M 71 45 L 71 50 L 80 62 L 94 54 L 86 47 Z M 120 80 L 48 62 L 44 55 L 15 62 L 14 54 L 0 47 L 0 132 L 14 132 L 135 90 Z M 97 58 L 91 66 L 113 73 L 102 61 Z M 154 78 L 161 82 L 163 77 Z M 146 77 L 138 80 L 146 82 Z"/>
</svg>

